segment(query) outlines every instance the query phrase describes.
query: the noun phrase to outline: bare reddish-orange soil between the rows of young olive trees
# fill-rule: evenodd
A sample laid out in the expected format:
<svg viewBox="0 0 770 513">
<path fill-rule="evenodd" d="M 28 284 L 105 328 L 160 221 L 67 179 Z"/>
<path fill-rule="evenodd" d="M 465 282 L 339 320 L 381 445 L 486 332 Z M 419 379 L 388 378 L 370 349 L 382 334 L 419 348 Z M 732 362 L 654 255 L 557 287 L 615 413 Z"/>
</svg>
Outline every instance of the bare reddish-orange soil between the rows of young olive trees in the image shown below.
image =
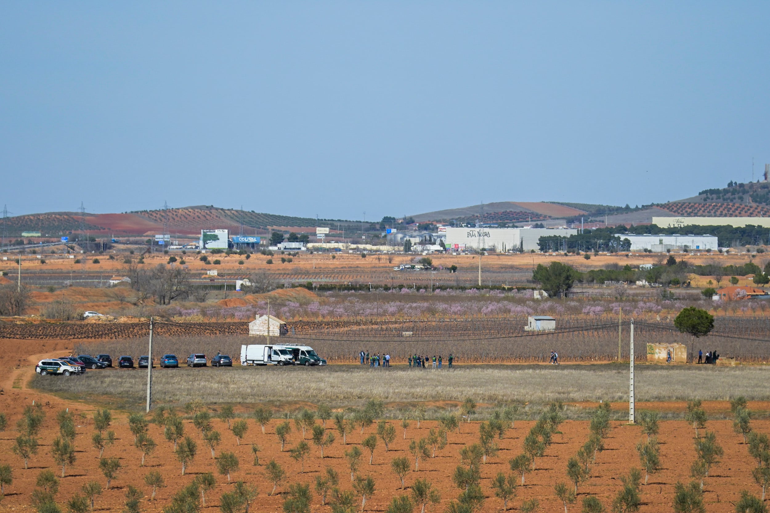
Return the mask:
<svg viewBox="0 0 770 513">
<path fill-rule="evenodd" d="M 72 344 L 64 341 L 42 341 L 30 344 L 25 341 L 3 340 L 3 351 L 0 352 L 0 364 L 6 369 L 5 381 L 2 383 L 2 395 L 0 395 L 0 408 L 8 415 L 8 431 L 0 434 L 0 463 L 10 464 L 13 468 L 14 481 L 6 486 L 5 499 L 0 503 L 0 511 L 33 511 L 30 503 L 30 495 L 35 488 L 35 479 L 39 472 L 45 468 L 51 468 L 60 475 L 61 468 L 55 465 L 50 455 L 51 443 L 58 434 L 55 422 L 57 411 L 69 407 L 77 417 L 77 414 L 85 412 L 90 417 L 94 408 L 79 401 L 66 401 L 59 397 L 41 394 L 39 391 L 26 387 L 26 381 L 32 377 L 34 363 L 42 357 L 67 354 Z M 51 377 L 50 379 L 63 379 Z M 76 379 L 76 378 L 74 378 Z M 260 400 L 255 393 L 255 402 Z M 12 454 L 11 445 L 17 435 L 14 430 L 15 423 L 21 415 L 22 408 L 32 401 L 41 401 L 45 405 L 45 425 L 40 434 L 39 452 L 30 461 L 30 468 L 23 468 L 23 461 Z M 313 398 L 309 397 L 312 402 Z M 594 407 L 594 404 L 584 404 L 585 407 Z M 678 403 L 654 403 L 641 404 L 639 407 L 653 407 L 662 411 L 681 410 L 683 404 Z M 755 410 L 766 410 L 766 403 L 750 403 L 749 407 Z M 616 409 L 624 409 L 625 405 L 617 404 Z M 728 409 L 728 404 L 722 401 L 705 404 L 707 411 L 723 412 Z M 237 408 L 240 414 L 248 414 L 243 408 Z M 144 485 L 143 476 L 151 470 L 160 471 L 165 478 L 167 488 L 158 492 L 157 500 L 153 502 L 143 501 L 142 511 L 161 511 L 162 507 L 169 504 L 169 498 L 183 485 L 186 485 L 196 474 L 201 472 L 213 472 L 217 476 L 217 485 L 207 495 L 207 508 L 204 511 L 216 511 L 219 507 L 219 495 L 232 488 L 227 483 L 226 476 L 219 475 L 216 471 L 215 461 L 211 458 L 209 448 L 206 447 L 199 432 L 186 422 L 185 431 L 198 444 L 198 454 L 189 464 L 186 475 L 181 475 L 181 465 L 172 453 L 172 444 L 163 438 L 159 427 L 152 424 L 149 428 L 150 436 L 157 442 L 158 448 L 146 461 L 144 468 L 139 466 L 141 455 L 133 447 L 133 437 L 129 431 L 127 413 L 113 411 L 112 429 L 117 435 L 115 445 L 107 448 L 106 457 L 119 458 L 122 469 L 118 478 L 112 481 L 112 488 L 96 498 L 95 508 L 98 511 L 122 511 L 125 502 L 125 492 L 128 485 L 135 485 L 149 497 L 150 489 Z M 252 511 L 281 511 L 283 492 L 291 483 L 313 483 L 316 475 L 326 466 L 331 466 L 340 474 L 340 488 L 350 489 L 350 473 L 343 458 L 343 451 L 349 449 L 352 444 L 360 441 L 373 432 L 368 428 L 362 435 L 355 431 L 348 436 L 348 447 L 343 446 L 340 440 L 326 448 L 326 458 L 320 458 L 320 450 L 313 447 L 310 456 L 306 458 L 304 472 L 300 471 L 300 463 L 290 458 L 287 451 L 280 451 L 280 442 L 276 438 L 275 427 L 279 421 L 273 421 L 262 434 L 259 425 L 249 420 L 249 431 L 243 444 L 237 445 L 236 438 L 231 434 L 225 423 L 214 420 L 214 428 L 222 434 L 223 443 L 217 448 L 217 454 L 221 451 L 233 451 L 239 458 L 240 468 L 233 473 L 233 481 L 243 480 L 256 484 L 259 487 L 259 498 L 256 508 Z M 99 481 L 106 485 L 106 480 L 99 471 L 98 452 L 91 446 L 93 433 L 92 421 L 76 422 L 78 425 L 75 446 L 77 448 L 77 461 L 71 467 L 65 469 L 65 477 L 60 479 L 60 490 L 57 500 L 63 505 L 80 487 L 87 481 Z M 497 472 L 509 472 L 507 461 L 521 452 L 524 436 L 531 428 L 531 421 L 517 421 L 514 428 L 508 431 L 506 437 L 499 441 L 500 452 L 494 458 L 490 458 L 487 464 L 482 466 L 482 488 L 487 495 L 482 511 L 500 511 L 502 502 L 494 497 L 490 488 L 490 478 Z M 327 423 L 328 425 L 328 423 Z M 770 430 L 770 421 L 755 420 L 752 426 L 757 431 Z M 410 458 L 407 445 L 415 438 L 426 437 L 428 430 L 435 427 L 434 421 L 425 421 L 418 429 L 416 422 L 407 429 L 407 438 L 403 438 L 403 430 L 397 427 L 398 437 L 392 444 L 390 451 L 385 451 L 382 442 L 374 453 L 373 464 L 368 464 L 368 451 L 363 449 L 365 457 L 360 465 L 359 474 L 371 475 L 376 481 L 377 491 L 367 500 L 367 511 L 384 511 L 387 503 L 396 495 L 403 493 L 400 481 L 390 471 L 390 461 L 398 456 Z M 454 488 L 451 474 L 454 468 L 460 464 L 458 451 L 464 444 L 477 441 L 477 422 L 464 424 L 461 433 L 449 435 L 449 444 L 439 451 L 436 458 L 427 458 L 420 461 L 419 471 L 410 471 L 407 474 L 406 484 L 410 486 L 417 478 L 427 478 L 441 492 L 441 504 L 430 505 L 427 511 L 444 511 L 447 503 L 457 497 L 458 490 Z M 711 476 L 705 481 L 705 503 L 710 512 L 734 511 L 734 503 L 740 492 L 744 489 L 752 491 L 755 495 L 761 493 L 761 489 L 754 484 L 751 471 L 754 468 L 752 458 L 748 456 L 747 446 L 743 444 L 740 435 L 732 430 L 731 421 L 708 421 L 708 429 L 715 431 L 717 440 L 725 449 L 725 456 L 721 463 L 711 471 Z M 521 505 L 521 501 L 528 498 L 537 498 L 541 502 L 541 511 L 561 511 L 560 502 L 554 498 L 553 486 L 558 481 L 567 481 L 564 474 L 567 460 L 573 456 L 581 444 L 588 438 L 588 422 L 566 421 L 561 426 L 563 434 L 554 436 L 554 443 L 548 448 L 542 458 L 535 463 L 535 470 L 527 474 L 526 485 L 518 488 L 517 498 L 514 499 L 514 508 Z M 689 468 L 695 459 L 693 449 L 694 431 L 685 421 L 662 421 L 659 439 L 661 441 L 661 471 L 650 477 L 649 484 L 642 486 L 640 511 L 670 511 L 674 493 L 674 485 L 677 481 L 689 481 Z M 301 433 L 293 428 L 289 449 L 300 441 Z M 591 468 L 591 478 L 578 488 L 578 501 L 585 495 L 596 495 L 606 507 L 611 505 L 612 498 L 621 488 L 620 476 L 628 472 L 632 466 L 638 466 L 638 456 L 635 444 L 643 437 L 637 426 L 629 426 L 622 422 L 613 422 L 613 429 L 606 440 L 606 450 L 598 455 L 596 464 Z M 275 459 L 286 470 L 286 479 L 277 490 L 277 495 L 268 496 L 273 488 L 263 475 L 263 466 L 253 466 L 253 457 L 249 444 L 258 444 L 261 452 L 259 459 L 265 464 L 270 459 Z M 312 443 L 311 443 L 312 446 Z M 408 490 L 407 490 L 408 491 Z M 511 506 L 509 504 L 509 506 Z M 211 509 L 213 508 L 213 509 Z M 579 505 L 573 505 L 570 511 L 579 511 Z M 321 506 L 320 498 L 313 498 L 313 511 L 330 511 L 329 506 Z"/>
</svg>

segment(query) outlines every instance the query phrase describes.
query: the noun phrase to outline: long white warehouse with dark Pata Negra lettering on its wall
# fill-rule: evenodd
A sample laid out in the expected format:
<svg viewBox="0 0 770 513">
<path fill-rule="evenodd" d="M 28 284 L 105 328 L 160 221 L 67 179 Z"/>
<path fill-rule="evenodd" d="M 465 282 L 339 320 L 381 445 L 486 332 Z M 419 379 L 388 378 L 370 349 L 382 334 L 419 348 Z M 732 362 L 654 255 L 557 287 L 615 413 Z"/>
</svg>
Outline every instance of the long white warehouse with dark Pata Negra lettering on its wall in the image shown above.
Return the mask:
<svg viewBox="0 0 770 513">
<path fill-rule="evenodd" d="M 495 250 L 507 251 L 539 250 L 537 241 L 543 236 L 568 237 L 577 230 L 567 228 L 450 228 L 447 227 L 447 251 Z"/>
</svg>

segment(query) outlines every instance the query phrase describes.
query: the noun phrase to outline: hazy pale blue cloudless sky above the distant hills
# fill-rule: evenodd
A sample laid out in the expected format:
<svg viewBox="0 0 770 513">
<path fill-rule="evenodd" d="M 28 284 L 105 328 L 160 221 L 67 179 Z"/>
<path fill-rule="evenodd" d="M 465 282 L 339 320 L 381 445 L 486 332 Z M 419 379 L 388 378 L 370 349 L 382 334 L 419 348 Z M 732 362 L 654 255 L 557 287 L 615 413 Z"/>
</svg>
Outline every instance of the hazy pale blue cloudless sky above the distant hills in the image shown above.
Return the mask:
<svg viewBox="0 0 770 513">
<path fill-rule="evenodd" d="M 770 163 L 770 2 L 0 3 L 13 213 L 665 202 Z"/>
</svg>

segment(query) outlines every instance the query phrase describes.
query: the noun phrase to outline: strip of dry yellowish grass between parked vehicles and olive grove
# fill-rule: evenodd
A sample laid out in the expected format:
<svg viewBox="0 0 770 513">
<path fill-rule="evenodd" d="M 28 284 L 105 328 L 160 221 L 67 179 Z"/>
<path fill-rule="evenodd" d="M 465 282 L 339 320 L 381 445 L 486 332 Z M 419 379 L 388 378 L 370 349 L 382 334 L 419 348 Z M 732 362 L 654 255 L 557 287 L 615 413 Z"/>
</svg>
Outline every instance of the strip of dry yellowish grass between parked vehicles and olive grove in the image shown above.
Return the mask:
<svg viewBox="0 0 770 513">
<path fill-rule="evenodd" d="M 770 399 L 764 366 L 711 365 L 636 367 L 637 401 L 728 401 L 738 396 Z M 144 370 L 88 371 L 83 377 L 35 377 L 43 391 L 86 400 L 121 404 L 138 410 L 146 393 Z M 272 404 L 291 410 L 297 404 L 360 407 L 370 399 L 392 404 L 449 401 L 466 397 L 484 404 L 549 401 L 628 401 L 628 366 L 594 365 L 460 365 L 454 369 L 410 369 L 360 365 L 326 367 L 180 367 L 156 369 L 152 395 L 157 404 L 177 407 L 190 401 L 206 404 Z M 437 411 L 437 414 L 440 411 Z M 390 413 L 398 415 L 397 411 Z"/>
</svg>

